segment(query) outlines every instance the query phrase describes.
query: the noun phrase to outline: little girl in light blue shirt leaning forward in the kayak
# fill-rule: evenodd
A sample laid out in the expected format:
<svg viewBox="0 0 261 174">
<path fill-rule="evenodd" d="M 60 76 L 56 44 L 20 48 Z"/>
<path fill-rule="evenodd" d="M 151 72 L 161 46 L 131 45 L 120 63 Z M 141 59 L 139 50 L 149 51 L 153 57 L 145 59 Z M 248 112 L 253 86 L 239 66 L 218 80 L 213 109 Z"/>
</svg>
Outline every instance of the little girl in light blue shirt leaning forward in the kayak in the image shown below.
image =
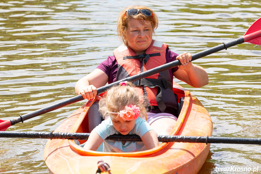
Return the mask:
<svg viewBox="0 0 261 174">
<path fill-rule="evenodd" d="M 135 152 L 158 146 L 157 134 L 146 121 L 146 109 L 132 83 L 121 82 L 110 88 L 99 102 L 99 111 L 105 120 L 91 131 L 85 149 L 96 150 L 102 142 L 104 152 Z M 142 142 L 105 140 L 115 133 L 136 134 Z"/>
</svg>

